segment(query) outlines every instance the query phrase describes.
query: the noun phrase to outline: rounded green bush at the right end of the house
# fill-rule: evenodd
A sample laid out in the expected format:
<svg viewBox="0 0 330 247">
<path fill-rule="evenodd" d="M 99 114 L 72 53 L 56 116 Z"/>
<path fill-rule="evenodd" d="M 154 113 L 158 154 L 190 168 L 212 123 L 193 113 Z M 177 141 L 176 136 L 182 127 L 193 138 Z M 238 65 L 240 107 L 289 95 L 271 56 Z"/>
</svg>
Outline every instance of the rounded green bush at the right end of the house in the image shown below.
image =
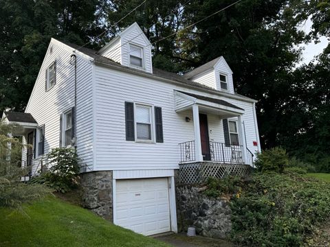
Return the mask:
<svg viewBox="0 0 330 247">
<path fill-rule="evenodd" d="M 287 152 L 283 148 L 264 150 L 256 155 L 255 165 L 260 172 L 282 173 L 289 163 Z"/>
</svg>

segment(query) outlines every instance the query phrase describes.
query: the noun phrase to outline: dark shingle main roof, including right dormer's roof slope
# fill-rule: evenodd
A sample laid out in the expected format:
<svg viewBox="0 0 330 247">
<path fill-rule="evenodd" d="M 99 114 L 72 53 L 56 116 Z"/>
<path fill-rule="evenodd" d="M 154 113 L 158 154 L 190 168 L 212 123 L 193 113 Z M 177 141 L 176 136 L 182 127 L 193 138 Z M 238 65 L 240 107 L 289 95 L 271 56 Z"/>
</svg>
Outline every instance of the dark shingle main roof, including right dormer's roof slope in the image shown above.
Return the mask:
<svg viewBox="0 0 330 247">
<path fill-rule="evenodd" d="M 121 69 L 127 69 L 129 71 L 134 71 L 134 72 L 138 72 L 138 73 L 144 73 L 146 75 L 151 75 L 150 73 L 147 73 L 147 72 L 144 72 L 144 71 L 141 71 L 139 69 L 133 69 L 131 67 L 126 67 L 118 62 L 114 62 L 113 60 L 109 59 L 109 58 L 106 58 L 104 56 L 100 56 L 98 55 L 98 51 L 95 51 L 93 49 L 89 49 L 89 48 L 86 48 L 86 47 L 81 47 L 79 45 L 75 45 L 75 44 L 72 44 L 72 43 L 67 43 L 67 42 L 63 42 L 61 41 L 62 43 L 64 43 L 65 45 L 68 45 L 69 47 L 72 47 L 73 49 L 79 49 L 80 52 L 82 52 L 83 54 L 86 54 L 87 56 L 90 56 L 91 58 L 94 58 L 96 64 L 106 64 L 106 65 L 109 65 L 111 67 L 117 67 L 117 68 L 121 68 Z M 221 58 L 221 57 L 219 57 Z M 210 62 L 207 62 L 206 64 L 203 64 L 201 67 L 198 67 L 188 73 L 186 73 L 186 75 L 188 75 L 189 73 L 192 73 L 193 71 L 196 71 L 197 70 L 197 73 L 198 72 L 198 69 L 205 69 L 206 67 L 210 67 L 212 68 L 214 66 L 214 64 L 217 63 L 217 61 L 219 60 L 219 58 L 215 58 L 214 60 L 210 61 Z M 195 72 L 194 72 L 195 73 Z M 213 89 L 211 88 L 210 86 L 206 86 L 206 85 L 203 85 L 203 84 L 200 84 L 198 82 L 192 82 L 192 80 L 188 80 L 186 75 L 178 75 L 176 73 L 172 73 L 172 72 L 168 72 L 168 71 L 163 71 L 162 69 L 157 69 L 155 67 L 153 67 L 153 75 L 159 77 L 159 78 L 164 78 L 166 80 L 172 80 L 172 81 L 175 81 L 175 82 L 179 82 L 181 84 L 184 84 L 184 85 L 187 85 L 187 86 L 195 86 L 197 88 L 200 88 L 200 89 L 207 89 L 208 91 L 213 91 L 214 93 L 221 93 L 222 95 L 228 95 L 229 97 L 232 96 L 232 95 L 235 95 L 237 97 L 240 97 L 240 98 L 243 98 L 243 99 L 248 99 L 248 100 L 254 100 L 254 99 L 251 99 L 249 97 L 246 97 L 246 96 L 243 96 L 243 95 L 239 95 L 238 93 L 225 93 L 225 92 L 219 92 L 217 89 Z"/>
</svg>

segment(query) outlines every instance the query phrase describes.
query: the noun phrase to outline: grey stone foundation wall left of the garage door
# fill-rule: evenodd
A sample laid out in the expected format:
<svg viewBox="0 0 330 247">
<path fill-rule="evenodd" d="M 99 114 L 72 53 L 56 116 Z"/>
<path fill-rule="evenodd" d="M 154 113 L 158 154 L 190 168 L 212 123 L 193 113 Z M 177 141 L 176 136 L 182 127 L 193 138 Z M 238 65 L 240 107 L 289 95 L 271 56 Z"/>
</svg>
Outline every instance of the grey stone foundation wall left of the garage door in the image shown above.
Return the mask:
<svg viewBox="0 0 330 247">
<path fill-rule="evenodd" d="M 83 207 L 113 222 L 112 171 L 80 174 Z"/>
</svg>

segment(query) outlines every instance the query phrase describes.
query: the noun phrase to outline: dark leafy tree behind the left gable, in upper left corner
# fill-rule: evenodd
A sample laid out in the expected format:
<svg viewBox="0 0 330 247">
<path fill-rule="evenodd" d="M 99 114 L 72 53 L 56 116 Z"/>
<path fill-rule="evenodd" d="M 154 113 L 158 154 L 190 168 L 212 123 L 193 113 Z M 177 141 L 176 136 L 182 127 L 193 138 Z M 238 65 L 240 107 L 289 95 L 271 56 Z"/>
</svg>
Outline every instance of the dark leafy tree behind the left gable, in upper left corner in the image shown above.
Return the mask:
<svg viewBox="0 0 330 247">
<path fill-rule="evenodd" d="M 24 110 L 50 38 L 102 43 L 105 12 L 105 0 L 0 0 L 0 111 Z"/>
</svg>

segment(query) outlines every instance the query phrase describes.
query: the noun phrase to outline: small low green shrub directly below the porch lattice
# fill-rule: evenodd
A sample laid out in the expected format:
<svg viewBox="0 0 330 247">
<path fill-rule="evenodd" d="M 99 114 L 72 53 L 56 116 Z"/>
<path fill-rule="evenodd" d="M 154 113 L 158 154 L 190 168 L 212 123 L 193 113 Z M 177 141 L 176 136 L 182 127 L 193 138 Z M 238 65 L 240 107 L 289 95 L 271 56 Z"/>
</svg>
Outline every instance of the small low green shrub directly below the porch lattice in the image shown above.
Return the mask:
<svg viewBox="0 0 330 247">
<path fill-rule="evenodd" d="M 209 177 L 206 180 L 208 189 L 204 192 L 206 196 L 217 198 L 222 194 L 236 194 L 239 195 L 241 191 L 241 178 L 238 176 L 225 176 L 225 178 Z"/>
</svg>

